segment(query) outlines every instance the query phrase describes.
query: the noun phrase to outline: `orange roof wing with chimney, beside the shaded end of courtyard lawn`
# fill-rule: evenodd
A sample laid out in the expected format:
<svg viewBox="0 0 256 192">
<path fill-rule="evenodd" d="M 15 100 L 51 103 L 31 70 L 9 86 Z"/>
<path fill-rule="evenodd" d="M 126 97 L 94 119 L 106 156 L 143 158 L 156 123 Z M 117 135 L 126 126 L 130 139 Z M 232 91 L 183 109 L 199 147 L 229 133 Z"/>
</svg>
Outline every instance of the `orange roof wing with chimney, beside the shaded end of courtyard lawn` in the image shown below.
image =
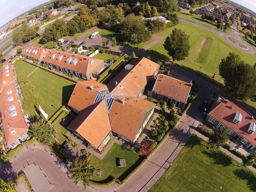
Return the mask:
<svg viewBox="0 0 256 192">
<path fill-rule="evenodd" d="M 90 88 L 91 85 L 94 86 L 93 90 Z M 69 99 L 68 105 L 77 111 L 82 111 L 93 104 L 99 91 L 107 89 L 108 88 L 105 84 L 94 80 L 77 82 Z"/>
</svg>

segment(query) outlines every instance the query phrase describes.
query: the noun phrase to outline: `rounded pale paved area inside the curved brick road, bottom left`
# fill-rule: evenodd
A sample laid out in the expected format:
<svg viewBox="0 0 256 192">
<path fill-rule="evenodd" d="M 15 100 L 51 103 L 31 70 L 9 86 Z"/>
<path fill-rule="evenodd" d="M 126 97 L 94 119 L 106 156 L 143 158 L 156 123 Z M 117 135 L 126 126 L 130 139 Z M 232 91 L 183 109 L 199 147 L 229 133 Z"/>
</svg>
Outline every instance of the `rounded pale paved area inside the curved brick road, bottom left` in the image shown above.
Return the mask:
<svg viewBox="0 0 256 192">
<path fill-rule="evenodd" d="M 34 189 L 35 192 L 46 192 L 49 191 L 54 185 L 50 181 L 50 179 L 45 174 L 44 170 L 42 170 L 36 164 L 29 164 L 24 169 L 23 172 L 27 176 L 30 185 Z"/>
</svg>

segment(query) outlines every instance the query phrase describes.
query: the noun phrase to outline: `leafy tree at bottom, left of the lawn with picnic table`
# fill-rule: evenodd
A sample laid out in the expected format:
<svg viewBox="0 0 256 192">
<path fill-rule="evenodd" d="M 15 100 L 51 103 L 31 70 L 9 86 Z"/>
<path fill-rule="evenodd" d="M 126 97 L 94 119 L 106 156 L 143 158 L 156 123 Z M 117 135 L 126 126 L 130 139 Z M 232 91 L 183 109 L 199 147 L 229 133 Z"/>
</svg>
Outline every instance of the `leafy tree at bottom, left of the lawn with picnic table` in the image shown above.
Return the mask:
<svg viewBox="0 0 256 192">
<path fill-rule="evenodd" d="M 72 174 L 71 179 L 74 180 L 74 183 L 77 184 L 79 181 L 82 181 L 84 189 L 90 185 L 90 179 L 96 175 L 95 171 L 96 167 L 90 157 L 86 157 L 85 159 L 76 157 L 72 165 L 68 168 L 68 172 Z"/>
</svg>

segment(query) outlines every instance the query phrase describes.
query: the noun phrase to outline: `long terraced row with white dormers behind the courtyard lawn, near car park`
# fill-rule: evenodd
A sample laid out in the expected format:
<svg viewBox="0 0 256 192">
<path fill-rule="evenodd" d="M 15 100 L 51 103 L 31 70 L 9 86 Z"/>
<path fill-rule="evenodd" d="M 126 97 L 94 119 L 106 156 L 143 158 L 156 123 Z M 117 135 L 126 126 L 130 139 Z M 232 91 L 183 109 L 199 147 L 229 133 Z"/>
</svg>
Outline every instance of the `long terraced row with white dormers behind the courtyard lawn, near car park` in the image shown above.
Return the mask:
<svg viewBox="0 0 256 192">
<path fill-rule="evenodd" d="M 42 61 L 49 67 L 86 80 L 89 80 L 94 73 L 98 74 L 104 68 L 104 60 L 102 59 L 54 49 L 27 46 L 22 51 L 22 56 L 37 62 Z"/>
</svg>

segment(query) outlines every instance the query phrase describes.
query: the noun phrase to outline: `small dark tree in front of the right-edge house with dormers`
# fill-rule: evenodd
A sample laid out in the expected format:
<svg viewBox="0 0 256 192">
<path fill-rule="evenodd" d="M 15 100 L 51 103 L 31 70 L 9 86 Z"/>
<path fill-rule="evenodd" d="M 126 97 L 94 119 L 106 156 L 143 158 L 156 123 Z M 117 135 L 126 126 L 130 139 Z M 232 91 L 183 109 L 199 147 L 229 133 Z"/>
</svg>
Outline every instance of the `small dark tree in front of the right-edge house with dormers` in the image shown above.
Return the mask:
<svg viewBox="0 0 256 192">
<path fill-rule="evenodd" d="M 213 128 L 213 131 L 214 133 L 209 136 L 208 144 L 209 148 L 211 148 L 212 150 L 216 150 L 226 144 L 226 142 L 230 138 L 230 135 L 228 134 L 228 128 L 224 128 L 223 126 L 220 126 L 219 130 Z"/>
</svg>

